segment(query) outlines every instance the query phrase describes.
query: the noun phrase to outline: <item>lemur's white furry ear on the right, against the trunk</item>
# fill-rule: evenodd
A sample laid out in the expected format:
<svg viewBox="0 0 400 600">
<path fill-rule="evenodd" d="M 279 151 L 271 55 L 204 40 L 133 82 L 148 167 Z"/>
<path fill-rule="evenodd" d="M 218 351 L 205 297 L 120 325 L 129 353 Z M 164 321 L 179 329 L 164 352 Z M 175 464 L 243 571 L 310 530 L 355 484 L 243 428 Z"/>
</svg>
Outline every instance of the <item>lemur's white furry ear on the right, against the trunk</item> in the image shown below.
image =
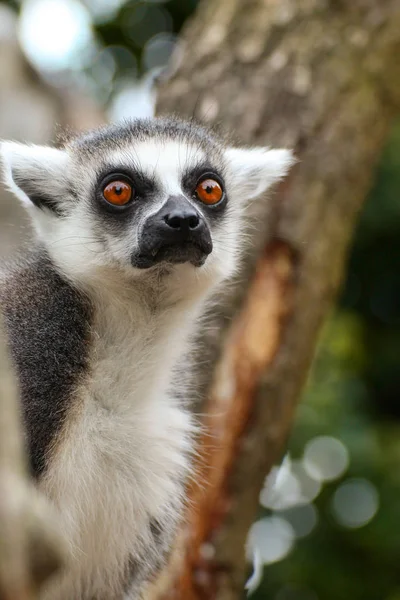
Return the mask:
<svg viewBox="0 0 400 600">
<path fill-rule="evenodd" d="M 246 200 L 256 198 L 282 179 L 296 162 L 290 150 L 228 148 L 225 151 L 235 192 Z"/>
</svg>

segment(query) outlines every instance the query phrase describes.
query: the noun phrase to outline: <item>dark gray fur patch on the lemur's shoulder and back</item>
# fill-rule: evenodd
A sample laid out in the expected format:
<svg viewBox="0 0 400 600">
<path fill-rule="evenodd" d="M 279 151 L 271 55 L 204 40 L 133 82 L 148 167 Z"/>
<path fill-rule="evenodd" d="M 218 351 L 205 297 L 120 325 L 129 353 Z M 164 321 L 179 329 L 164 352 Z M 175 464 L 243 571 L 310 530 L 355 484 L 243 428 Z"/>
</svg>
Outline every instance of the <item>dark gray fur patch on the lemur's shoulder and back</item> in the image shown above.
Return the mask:
<svg viewBox="0 0 400 600">
<path fill-rule="evenodd" d="M 30 466 L 38 477 L 88 370 L 91 306 L 37 249 L 5 276 L 0 307 L 19 378 Z"/>
</svg>

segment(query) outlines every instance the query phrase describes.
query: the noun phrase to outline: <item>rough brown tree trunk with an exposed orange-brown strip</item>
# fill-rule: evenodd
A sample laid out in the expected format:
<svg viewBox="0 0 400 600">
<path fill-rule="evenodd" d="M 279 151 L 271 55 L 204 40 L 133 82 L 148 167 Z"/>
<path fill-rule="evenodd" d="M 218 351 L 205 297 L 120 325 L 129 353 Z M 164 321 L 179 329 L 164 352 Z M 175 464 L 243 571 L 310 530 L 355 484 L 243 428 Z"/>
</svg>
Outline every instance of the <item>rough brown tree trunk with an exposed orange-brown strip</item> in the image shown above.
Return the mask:
<svg viewBox="0 0 400 600">
<path fill-rule="evenodd" d="M 222 310 L 230 316 L 242 301 L 221 334 L 201 485 L 168 597 L 242 594 L 259 492 L 284 449 L 400 106 L 399 56 L 399 0 L 204 0 L 183 33 L 159 111 L 293 147 L 299 163 L 271 200 L 256 266 L 250 259 L 240 276 L 250 281 L 245 299 L 238 286 Z"/>
</svg>

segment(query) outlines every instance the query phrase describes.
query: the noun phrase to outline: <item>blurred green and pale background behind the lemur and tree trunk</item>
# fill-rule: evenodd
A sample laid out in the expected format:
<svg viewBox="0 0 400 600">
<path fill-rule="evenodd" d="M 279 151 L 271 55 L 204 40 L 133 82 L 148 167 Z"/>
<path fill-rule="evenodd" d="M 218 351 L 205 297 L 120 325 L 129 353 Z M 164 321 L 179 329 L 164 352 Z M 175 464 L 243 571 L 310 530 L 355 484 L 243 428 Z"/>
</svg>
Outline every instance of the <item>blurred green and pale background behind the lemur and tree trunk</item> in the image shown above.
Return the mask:
<svg viewBox="0 0 400 600">
<path fill-rule="evenodd" d="M 152 114 L 197 0 L 0 1 L 0 138 Z M 55 92 L 56 90 L 56 92 Z M 0 252 L 27 224 L 0 191 Z M 288 454 L 260 496 L 261 600 L 400 600 L 400 123 L 356 232 Z M 251 568 L 249 566 L 249 573 Z"/>
</svg>

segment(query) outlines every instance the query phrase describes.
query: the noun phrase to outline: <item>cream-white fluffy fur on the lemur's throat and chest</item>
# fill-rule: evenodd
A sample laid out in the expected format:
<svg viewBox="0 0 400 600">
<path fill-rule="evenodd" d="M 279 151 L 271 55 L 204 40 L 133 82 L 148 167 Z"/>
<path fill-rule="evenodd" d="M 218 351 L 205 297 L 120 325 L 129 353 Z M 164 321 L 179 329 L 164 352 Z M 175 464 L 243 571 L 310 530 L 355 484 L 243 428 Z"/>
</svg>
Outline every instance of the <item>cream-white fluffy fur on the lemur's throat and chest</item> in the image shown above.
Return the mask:
<svg viewBox="0 0 400 600">
<path fill-rule="evenodd" d="M 43 478 L 89 570 L 134 560 L 154 571 L 173 539 L 192 434 L 169 392 L 182 352 L 173 317 L 120 297 L 95 306 L 88 376 Z"/>
</svg>

